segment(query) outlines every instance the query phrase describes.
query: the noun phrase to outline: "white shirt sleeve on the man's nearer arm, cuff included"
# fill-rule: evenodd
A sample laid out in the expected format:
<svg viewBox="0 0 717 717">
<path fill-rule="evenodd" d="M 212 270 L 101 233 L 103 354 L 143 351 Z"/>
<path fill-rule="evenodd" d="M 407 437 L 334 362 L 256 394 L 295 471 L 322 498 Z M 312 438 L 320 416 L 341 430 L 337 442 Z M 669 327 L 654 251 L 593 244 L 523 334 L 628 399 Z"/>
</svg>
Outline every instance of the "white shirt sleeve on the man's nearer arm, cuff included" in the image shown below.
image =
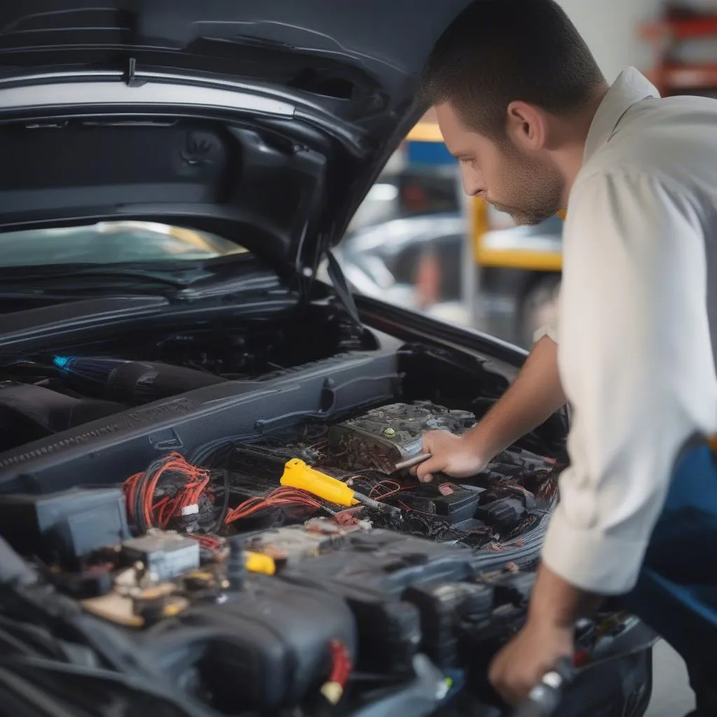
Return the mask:
<svg viewBox="0 0 717 717">
<path fill-rule="evenodd" d="M 680 447 L 715 427 L 701 222 L 678 186 L 637 172 L 571 194 L 558 352 L 571 465 L 543 561 L 589 592 L 635 585 Z"/>
</svg>

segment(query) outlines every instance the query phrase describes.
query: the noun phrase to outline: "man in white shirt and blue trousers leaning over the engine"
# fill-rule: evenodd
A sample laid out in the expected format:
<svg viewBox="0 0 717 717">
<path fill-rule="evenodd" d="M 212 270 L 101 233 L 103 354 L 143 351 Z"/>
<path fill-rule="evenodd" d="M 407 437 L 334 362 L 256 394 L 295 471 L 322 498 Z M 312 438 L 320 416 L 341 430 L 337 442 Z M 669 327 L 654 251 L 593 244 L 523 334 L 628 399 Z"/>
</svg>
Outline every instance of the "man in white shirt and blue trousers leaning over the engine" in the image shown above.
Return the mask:
<svg viewBox="0 0 717 717">
<path fill-rule="evenodd" d="M 606 597 L 685 658 L 717 714 L 717 101 L 661 99 L 637 70 L 612 86 L 551 0 L 484 0 L 423 77 L 467 194 L 521 224 L 567 210 L 558 320 L 471 432 L 424 436 L 467 478 L 561 405 L 570 465 L 528 619 L 493 661 L 510 703 L 573 651 Z"/>
</svg>

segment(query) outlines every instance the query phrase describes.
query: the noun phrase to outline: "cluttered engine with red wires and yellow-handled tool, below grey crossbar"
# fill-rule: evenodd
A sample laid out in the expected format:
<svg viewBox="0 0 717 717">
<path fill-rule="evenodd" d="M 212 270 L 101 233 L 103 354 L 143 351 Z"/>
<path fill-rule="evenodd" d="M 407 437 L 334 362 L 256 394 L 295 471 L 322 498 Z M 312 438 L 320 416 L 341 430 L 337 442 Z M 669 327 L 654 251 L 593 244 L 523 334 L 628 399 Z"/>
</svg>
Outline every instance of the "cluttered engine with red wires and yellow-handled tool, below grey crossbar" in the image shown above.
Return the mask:
<svg viewBox="0 0 717 717">
<path fill-rule="evenodd" d="M 410 684 L 426 659 L 434 678 L 482 675 L 480 693 L 524 617 L 561 465 L 513 447 L 461 483 L 395 470 L 424 430 L 473 424 L 394 403 L 212 442 L 121 485 L 0 495 L 0 533 L 219 713 L 360 703 L 353 671 Z"/>
</svg>

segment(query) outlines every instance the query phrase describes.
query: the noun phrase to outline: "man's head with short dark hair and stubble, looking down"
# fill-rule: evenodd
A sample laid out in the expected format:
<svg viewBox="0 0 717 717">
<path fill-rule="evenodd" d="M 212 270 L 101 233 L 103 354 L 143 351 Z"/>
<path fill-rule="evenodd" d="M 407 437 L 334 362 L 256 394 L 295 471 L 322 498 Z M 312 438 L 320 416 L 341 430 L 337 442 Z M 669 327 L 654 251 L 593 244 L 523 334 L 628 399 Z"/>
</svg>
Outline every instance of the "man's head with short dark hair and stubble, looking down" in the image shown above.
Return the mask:
<svg viewBox="0 0 717 717">
<path fill-rule="evenodd" d="M 553 0 L 483 0 L 437 42 L 422 78 L 463 186 L 519 224 L 562 208 L 574 147 L 604 77 Z M 571 125 L 577 130 L 571 130 Z"/>
</svg>

